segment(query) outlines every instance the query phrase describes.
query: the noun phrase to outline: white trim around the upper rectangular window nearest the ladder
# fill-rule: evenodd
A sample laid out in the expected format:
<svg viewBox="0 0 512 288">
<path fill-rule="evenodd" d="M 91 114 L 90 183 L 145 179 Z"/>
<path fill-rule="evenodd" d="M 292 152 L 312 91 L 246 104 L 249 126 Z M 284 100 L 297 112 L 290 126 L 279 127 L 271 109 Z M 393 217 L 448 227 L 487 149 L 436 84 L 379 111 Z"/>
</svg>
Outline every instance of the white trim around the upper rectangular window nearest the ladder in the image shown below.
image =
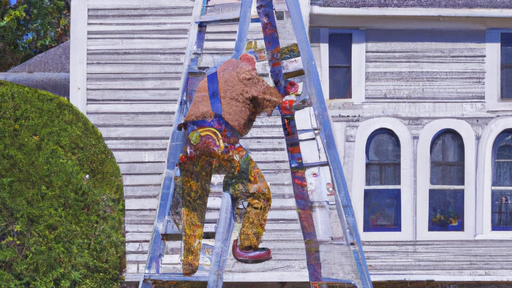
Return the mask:
<svg viewBox="0 0 512 288">
<path fill-rule="evenodd" d="M 365 32 L 358 29 L 320 29 L 321 76 L 324 98 L 329 100 L 329 34 L 352 34 L 352 98 L 331 99 L 330 101 L 350 101 L 361 104 L 365 101 L 366 80 L 366 39 Z"/>
</svg>

